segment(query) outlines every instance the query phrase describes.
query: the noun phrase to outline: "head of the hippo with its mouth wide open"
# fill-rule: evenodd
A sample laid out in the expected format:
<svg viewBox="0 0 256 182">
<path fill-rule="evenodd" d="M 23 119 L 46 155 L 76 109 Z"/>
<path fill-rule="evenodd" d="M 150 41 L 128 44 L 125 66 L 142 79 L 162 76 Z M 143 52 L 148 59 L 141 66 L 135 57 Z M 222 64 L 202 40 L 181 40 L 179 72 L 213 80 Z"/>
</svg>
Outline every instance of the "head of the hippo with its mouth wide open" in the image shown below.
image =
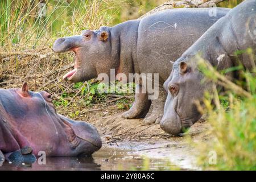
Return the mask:
<svg viewBox="0 0 256 182">
<path fill-rule="evenodd" d="M 84 30 L 81 35 L 57 39 L 53 44 L 53 51 L 75 52 L 75 68 L 65 74 L 71 82 L 86 81 L 97 77 L 100 73 L 110 76 L 110 69 L 117 69 L 115 57 L 118 50 L 113 51 L 114 44 L 110 40 L 110 27 L 100 30 Z"/>
</svg>

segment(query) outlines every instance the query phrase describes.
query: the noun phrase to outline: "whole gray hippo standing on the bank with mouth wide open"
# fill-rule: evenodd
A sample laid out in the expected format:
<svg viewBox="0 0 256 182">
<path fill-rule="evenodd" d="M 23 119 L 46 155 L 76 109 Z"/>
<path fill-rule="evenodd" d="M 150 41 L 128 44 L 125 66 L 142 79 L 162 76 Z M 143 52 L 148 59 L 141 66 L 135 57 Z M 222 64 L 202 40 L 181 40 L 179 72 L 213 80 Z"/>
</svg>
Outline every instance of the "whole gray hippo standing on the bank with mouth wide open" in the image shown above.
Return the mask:
<svg viewBox="0 0 256 182">
<path fill-rule="evenodd" d="M 114 27 L 85 30 L 81 35 L 57 39 L 53 51 L 76 53 L 76 69 L 68 73 L 68 80 L 72 82 L 90 80 L 100 73 L 110 76 L 110 69 L 127 77 L 129 73 L 158 73 L 158 99 L 151 101 L 147 93 L 138 93 L 142 89 L 138 84 L 133 107 L 123 113 L 123 117 L 144 118 L 152 102 L 152 114 L 144 121 L 159 123 L 166 101 L 163 83 L 170 75 L 170 60 L 181 56 L 228 11 L 217 8 L 217 16 L 211 17 L 210 9 L 164 10 Z"/>
</svg>

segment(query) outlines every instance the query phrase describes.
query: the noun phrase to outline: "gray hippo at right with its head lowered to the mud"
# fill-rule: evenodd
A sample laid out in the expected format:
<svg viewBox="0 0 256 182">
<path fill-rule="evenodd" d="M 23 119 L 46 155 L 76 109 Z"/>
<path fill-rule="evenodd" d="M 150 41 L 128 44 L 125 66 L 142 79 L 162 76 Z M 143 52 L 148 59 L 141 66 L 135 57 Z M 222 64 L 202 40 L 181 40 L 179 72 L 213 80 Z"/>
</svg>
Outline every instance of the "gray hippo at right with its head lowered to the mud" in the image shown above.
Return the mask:
<svg viewBox="0 0 256 182">
<path fill-rule="evenodd" d="M 255 66 L 255 60 L 245 53 L 239 57 L 235 57 L 234 53 L 250 47 L 255 55 L 255 46 L 256 1 L 247 0 L 218 20 L 175 61 L 170 77 L 164 82 L 168 96 L 160 122 L 162 129 L 179 135 L 201 117 L 195 101 L 201 101 L 205 90 L 210 91 L 212 87 L 209 82 L 201 84 L 204 76 L 197 69 L 197 53 L 201 53 L 201 57 L 218 70 L 236 66 L 236 59 L 250 70 Z M 229 76 L 236 78 L 239 75 L 233 72 Z"/>
</svg>

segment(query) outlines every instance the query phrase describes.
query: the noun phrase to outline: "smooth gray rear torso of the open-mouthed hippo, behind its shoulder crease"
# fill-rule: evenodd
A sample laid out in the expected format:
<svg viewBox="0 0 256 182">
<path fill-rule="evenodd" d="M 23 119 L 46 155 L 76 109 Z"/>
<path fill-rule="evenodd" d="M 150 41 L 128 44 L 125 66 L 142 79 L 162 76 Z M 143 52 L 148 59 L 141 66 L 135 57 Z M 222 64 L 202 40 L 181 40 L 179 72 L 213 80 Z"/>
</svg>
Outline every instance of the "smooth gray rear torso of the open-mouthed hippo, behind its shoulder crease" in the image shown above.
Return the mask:
<svg viewBox="0 0 256 182">
<path fill-rule="evenodd" d="M 141 20 L 138 27 L 137 61 L 142 73 L 170 75 L 175 61 L 205 31 L 230 9 L 171 9 Z M 150 65 L 145 67 L 145 65 Z"/>
</svg>

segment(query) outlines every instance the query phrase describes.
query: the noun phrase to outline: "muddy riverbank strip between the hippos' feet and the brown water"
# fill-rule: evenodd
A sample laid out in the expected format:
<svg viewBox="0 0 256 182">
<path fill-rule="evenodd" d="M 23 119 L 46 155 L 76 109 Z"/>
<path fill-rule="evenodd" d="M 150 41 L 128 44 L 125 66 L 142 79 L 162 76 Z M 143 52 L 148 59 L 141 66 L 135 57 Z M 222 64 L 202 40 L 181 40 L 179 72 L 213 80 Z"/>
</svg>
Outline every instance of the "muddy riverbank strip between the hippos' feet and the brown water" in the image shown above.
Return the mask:
<svg viewBox="0 0 256 182">
<path fill-rule="evenodd" d="M 121 110 L 122 111 L 122 110 Z M 105 113 L 104 113 L 105 112 Z M 174 137 L 160 129 L 159 124 L 145 125 L 143 119 L 124 119 L 121 112 L 105 110 L 98 114 L 90 113 L 89 122 L 97 127 L 102 135 L 102 148 L 130 151 L 155 160 L 170 162 L 180 169 L 200 169 L 196 164 L 199 153 L 191 145 L 193 142 L 207 142 L 210 129 L 207 121 L 200 120 L 192 126 L 186 137 Z M 188 139 L 189 138 L 189 139 Z"/>
</svg>

